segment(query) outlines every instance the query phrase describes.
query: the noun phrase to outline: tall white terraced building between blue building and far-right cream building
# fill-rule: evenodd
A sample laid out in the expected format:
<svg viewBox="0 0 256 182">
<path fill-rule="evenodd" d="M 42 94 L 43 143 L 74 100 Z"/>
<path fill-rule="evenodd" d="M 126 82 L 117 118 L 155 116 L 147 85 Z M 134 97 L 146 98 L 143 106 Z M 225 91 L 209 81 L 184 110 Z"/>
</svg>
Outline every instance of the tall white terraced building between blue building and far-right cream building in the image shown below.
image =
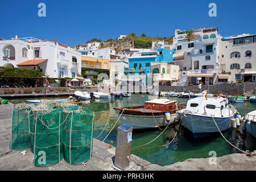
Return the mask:
<svg viewBox="0 0 256 182">
<path fill-rule="evenodd" d="M 180 76 L 180 82 L 198 84 L 196 78 L 201 77 L 204 84 L 216 84 L 218 75 L 221 75 L 221 69 L 217 64 L 220 42 L 218 28 L 199 28 L 192 31 L 196 37 L 188 42 L 185 38 L 187 31 L 175 30 L 172 47 L 176 51 L 173 56 L 174 62 L 182 71 L 187 71 L 181 73 L 187 77 Z M 183 80 L 184 78 L 186 80 Z"/>
</svg>

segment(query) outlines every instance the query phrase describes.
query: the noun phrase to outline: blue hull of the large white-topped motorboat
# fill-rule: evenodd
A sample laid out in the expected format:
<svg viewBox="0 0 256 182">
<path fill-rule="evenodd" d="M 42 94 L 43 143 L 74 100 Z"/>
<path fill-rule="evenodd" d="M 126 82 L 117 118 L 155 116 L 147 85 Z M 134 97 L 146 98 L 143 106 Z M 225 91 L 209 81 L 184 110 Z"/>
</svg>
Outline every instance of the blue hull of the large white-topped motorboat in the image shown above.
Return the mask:
<svg viewBox="0 0 256 182">
<path fill-rule="evenodd" d="M 180 117 L 183 115 L 179 113 Z M 214 118 L 220 131 L 230 129 L 230 119 L 232 117 Z M 191 131 L 192 134 L 217 134 L 219 133 L 217 126 L 215 125 L 212 117 L 196 114 L 186 114 L 186 117 L 181 118 L 181 122 L 185 127 Z"/>
</svg>

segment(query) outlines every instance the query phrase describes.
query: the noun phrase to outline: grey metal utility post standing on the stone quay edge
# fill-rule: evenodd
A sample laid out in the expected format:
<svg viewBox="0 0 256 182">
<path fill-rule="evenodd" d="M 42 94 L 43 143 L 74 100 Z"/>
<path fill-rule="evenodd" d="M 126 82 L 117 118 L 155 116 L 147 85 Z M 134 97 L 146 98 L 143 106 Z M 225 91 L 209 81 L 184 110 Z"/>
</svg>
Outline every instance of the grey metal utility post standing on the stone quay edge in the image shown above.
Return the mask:
<svg viewBox="0 0 256 182">
<path fill-rule="evenodd" d="M 115 148 L 115 162 L 113 168 L 126 171 L 130 169 L 131 138 L 133 127 L 121 125 L 117 129 L 117 147 Z"/>
</svg>

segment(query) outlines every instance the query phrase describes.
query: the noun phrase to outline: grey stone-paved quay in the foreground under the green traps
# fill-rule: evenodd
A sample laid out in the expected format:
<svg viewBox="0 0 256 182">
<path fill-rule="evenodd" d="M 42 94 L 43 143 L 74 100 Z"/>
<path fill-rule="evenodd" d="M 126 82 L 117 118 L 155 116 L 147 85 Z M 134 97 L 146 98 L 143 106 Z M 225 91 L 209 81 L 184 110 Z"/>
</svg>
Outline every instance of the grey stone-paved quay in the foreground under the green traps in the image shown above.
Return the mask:
<svg viewBox="0 0 256 182">
<path fill-rule="evenodd" d="M 69 165 L 61 160 L 49 167 L 34 167 L 32 165 L 33 155 L 27 150 L 26 155 L 22 151 L 11 151 L 9 148 L 11 136 L 11 113 L 13 104 L 0 105 L 0 171 L 3 170 L 57 170 L 57 171 L 114 171 L 115 148 L 109 148 L 109 144 L 100 140 L 93 140 L 92 158 L 85 165 Z M 256 156 L 248 157 L 244 154 L 232 154 L 217 158 L 217 165 L 210 165 L 209 159 L 187 159 L 170 166 L 158 166 L 151 164 L 138 156 L 131 155 L 131 171 L 166 171 L 166 170 L 254 170 L 256 171 Z"/>
</svg>

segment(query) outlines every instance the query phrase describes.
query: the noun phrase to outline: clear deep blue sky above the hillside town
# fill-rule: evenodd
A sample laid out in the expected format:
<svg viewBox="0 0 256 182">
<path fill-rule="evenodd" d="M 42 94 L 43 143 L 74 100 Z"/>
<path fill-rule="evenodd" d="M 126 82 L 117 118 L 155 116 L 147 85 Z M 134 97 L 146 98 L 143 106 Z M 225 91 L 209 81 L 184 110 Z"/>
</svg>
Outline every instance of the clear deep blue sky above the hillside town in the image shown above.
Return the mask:
<svg viewBox="0 0 256 182">
<path fill-rule="evenodd" d="M 46 4 L 46 17 L 38 4 Z M 208 15 L 209 3 L 217 17 Z M 102 41 L 135 32 L 172 36 L 175 29 L 218 27 L 221 35 L 256 34 L 255 0 L 13 0 L 0 2 L 0 38 L 33 36 L 68 46 L 98 38 Z"/>
</svg>

